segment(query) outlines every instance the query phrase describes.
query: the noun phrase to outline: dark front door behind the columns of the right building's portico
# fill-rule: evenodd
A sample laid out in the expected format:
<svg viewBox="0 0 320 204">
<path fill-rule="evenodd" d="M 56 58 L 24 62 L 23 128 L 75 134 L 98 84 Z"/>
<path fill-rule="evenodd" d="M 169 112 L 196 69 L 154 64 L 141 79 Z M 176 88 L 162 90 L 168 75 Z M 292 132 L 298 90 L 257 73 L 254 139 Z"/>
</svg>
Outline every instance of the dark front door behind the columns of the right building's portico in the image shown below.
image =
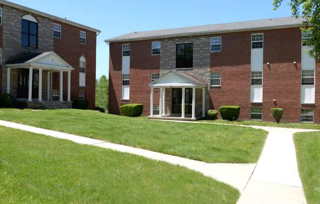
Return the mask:
<svg viewBox="0 0 320 204">
<path fill-rule="evenodd" d="M 181 114 L 182 88 L 172 89 L 172 113 Z M 185 91 L 185 114 L 191 114 L 192 110 L 192 88 Z"/>
</svg>

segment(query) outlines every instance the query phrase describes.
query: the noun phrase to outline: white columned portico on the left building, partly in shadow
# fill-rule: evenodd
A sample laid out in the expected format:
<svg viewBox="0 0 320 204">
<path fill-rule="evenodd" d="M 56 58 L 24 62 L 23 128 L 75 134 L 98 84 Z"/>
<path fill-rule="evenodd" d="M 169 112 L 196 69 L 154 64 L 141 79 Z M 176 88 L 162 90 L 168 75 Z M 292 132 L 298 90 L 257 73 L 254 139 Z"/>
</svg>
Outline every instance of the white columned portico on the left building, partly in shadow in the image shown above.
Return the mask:
<svg viewBox="0 0 320 204">
<path fill-rule="evenodd" d="M 71 71 L 74 68 L 68 64 L 64 59 L 62 59 L 58 54 L 54 51 L 51 52 L 43 52 L 43 53 L 33 53 L 28 55 L 23 55 L 18 57 L 17 59 L 11 60 L 6 64 L 7 68 L 7 86 L 6 92 L 8 94 L 14 94 L 18 92 L 14 97 L 22 101 L 25 97 L 27 97 L 27 102 L 44 102 L 44 101 L 52 101 L 52 75 L 53 73 L 59 73 L 59 95 L 58 101 L 63 102 L 63 73 L 68 73 L 67 80 L 67 102 L 71 102 L 70 94 L 71 94 Z M 11 71 L 13 69 L 20 70 L 21 74 L 14 80 L 17 80 L 16 83 L 11 82 Z M 27 71 L 28 70 L 28 71 Z M 23 71 L 23 72 L 22 72 Z M 25 72 L 27 71 L 27 72 Z M 34 72 L 36 71 L 36 72 Z M 47 75 L 45 78 L 47 79 L 47 84 L 43 86 L 43 72 Z M 35 75 L 36 73 L 36 75 Z M 33 77 L 36 77 L 36 83 Z M 12 84 L 18 84 L 19 90 L 14 90 Z M 36 86 L 37 99 L 34 99 L 35 93 L 32 93 Z M 47 99 L 43 100 L 43 87 L 47 87 L 46 96 Z M 14 91 L 13 91 L 14 90 Z M 11 93 L 13 92 L 13 93 Z M 19 93 L 20 92 L 20 93 Z M 20 95 L 20 96 L 19 96 Z"/>
</svg>

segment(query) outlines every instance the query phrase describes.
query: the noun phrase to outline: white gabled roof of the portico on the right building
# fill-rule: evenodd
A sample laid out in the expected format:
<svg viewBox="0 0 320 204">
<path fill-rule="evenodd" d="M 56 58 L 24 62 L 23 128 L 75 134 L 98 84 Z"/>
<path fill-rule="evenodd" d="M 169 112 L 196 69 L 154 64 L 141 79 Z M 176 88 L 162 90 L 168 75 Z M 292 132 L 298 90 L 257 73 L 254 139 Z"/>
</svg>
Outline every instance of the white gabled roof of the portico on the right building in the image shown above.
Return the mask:
<svg viewBox="0 0 320 204">
<path fill-rule="evenodd" d="M 207 87 L 201 82 L 187 74 L 171 70 L 149 84 L 150 87 Z"/>
</svg>

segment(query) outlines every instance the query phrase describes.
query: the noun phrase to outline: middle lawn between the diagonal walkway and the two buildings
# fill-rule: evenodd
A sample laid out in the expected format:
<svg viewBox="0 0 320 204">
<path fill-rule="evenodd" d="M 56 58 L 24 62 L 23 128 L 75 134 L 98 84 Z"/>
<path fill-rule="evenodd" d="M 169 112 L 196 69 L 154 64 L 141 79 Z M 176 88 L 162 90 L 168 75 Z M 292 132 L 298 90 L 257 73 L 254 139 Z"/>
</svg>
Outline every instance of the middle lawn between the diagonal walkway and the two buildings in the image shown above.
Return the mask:
<svg viewBox="0 0 320 204">
<path fill-rule="evenodd" d="M 267 137 L 266 131 L 254 128 L 152 121 L 76 109 L 2 109 L 0 120 L 210 163 L 257 162 Z"/>
</svg>

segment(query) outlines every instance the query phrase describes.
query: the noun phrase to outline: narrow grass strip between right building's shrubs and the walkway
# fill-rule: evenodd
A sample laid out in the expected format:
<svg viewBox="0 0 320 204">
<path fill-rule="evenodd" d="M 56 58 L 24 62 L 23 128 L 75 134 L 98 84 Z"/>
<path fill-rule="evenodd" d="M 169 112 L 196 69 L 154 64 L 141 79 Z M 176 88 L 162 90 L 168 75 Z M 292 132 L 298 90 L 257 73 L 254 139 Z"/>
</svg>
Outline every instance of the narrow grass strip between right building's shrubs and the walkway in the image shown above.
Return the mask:
<svg viewBox="0 0 320 204">
<path fill-rule="evenodd" d="M 320 129 L 320 125 L 311 123 L 279 123 L 265 122 L 265 121 L 227 121 L 227 120 L 202 120 L 203 123 L 216 123 L 216 124 L 232 124 L 243 126 L 267 126 L 278 128 L 300 128 L 300 129 Z"/>
</svg>

